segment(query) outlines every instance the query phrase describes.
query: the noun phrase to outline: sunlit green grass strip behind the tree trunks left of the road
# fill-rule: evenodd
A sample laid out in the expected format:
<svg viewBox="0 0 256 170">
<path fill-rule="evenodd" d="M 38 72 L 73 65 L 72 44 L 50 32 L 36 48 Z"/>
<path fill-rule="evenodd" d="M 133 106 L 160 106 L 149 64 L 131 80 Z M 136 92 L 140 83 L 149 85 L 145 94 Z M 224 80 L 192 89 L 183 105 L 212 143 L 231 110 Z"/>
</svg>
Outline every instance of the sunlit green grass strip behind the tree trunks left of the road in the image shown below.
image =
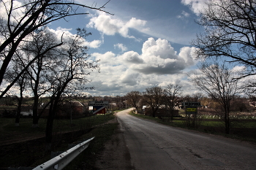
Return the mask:
<svg viewBox="0 0 256 170">
<path fill-rule="evenodd" d="M 89 128 L 91 125 L 100 125 L 112 120 L 115 116 L 95 115 L 92 117 L 83 117 L 80 119 L 56 119 L 53 123 L 53 134 L 65 131 L 78 131 L 80 129 Z M 32 128 L 31 118 L 20 118 L 20 126 L 15 126 L 15 118 L 0 117 L 0 139 L 7 140 L 17 137 L 26 137 L 33 135 L 44 135 L 47 120 L 39 119 L 39 128 Z"/>
</svg>

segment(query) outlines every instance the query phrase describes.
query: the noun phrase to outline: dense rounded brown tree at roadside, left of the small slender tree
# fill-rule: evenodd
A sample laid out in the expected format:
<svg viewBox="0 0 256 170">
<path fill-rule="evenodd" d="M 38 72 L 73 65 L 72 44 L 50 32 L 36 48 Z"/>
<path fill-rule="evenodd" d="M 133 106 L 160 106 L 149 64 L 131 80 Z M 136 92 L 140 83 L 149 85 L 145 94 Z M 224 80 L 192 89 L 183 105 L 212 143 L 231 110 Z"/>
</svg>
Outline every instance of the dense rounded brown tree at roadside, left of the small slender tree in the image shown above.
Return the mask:
<svg viewBox="0 0 256 170">
<path fill-rule="evenodd" d="M 155 117 L 161 102 L 162 102 L 163 90 L 160 87 L 154 86 L 152 88 L 146 88 L 146 91 L 143 92 L 143 98 L 146 101 L 146 104 L 152 110 L 152 116 Z"/>
</svg>

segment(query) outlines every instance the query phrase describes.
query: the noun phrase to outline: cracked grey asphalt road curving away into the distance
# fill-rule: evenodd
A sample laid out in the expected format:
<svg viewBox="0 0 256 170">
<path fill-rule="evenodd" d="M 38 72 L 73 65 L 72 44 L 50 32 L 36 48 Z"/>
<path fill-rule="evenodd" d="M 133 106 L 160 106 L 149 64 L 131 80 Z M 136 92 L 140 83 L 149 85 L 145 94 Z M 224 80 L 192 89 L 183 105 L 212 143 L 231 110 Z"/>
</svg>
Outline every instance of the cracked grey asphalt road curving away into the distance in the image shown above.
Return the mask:
<svg viewBox="0 0 256 170">
<path fill-rule="evenodd" d="M 256 145 L 117 113 L 132 166 L 140 169 L 256 169 Z"/>
</svg>

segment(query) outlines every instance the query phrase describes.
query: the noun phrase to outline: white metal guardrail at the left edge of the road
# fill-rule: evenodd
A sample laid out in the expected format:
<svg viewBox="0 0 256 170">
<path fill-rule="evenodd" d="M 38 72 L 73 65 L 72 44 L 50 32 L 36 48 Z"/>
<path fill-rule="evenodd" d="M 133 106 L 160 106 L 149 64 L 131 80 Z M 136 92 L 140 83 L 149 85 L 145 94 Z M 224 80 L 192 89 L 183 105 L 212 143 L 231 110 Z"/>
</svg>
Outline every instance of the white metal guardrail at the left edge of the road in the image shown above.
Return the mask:
<svg viewBox="0 0 256 170">
<path fill-rule="evenodd" d="M 52 158 L 51 160 L 42 163 L 41 165 L 37 166 L 33 170 L 59 170 L 64 169 L 67 164 L 69 164 L 76 156 L 80 154 L 80 152 L 83 152 L 83 150 L 86 150 L 86 148 L 89 146 L 91 140 L 93 138 L 86 140 L 85 142 L 82 142 L 75 147 L 72 147 L 71 149 L 67 150 L 66 152 L 61 153 L 60 155 L 56 156 L 55 158 Z"/>
</svg>

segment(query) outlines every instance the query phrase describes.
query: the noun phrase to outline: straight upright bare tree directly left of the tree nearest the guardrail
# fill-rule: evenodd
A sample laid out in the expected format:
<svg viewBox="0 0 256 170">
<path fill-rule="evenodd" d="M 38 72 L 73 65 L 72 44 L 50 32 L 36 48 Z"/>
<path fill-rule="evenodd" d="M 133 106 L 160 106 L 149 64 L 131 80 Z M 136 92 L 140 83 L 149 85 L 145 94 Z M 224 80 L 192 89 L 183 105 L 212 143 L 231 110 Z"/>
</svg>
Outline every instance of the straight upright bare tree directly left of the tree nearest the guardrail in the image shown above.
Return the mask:
<svg viewBox="0 0 256 170">
<path fill-rule="evenodd" d="M 39 117 L 42 112 L 38 112 L 39 98 L 44 95 L 50 86 L 46 82 L 45 75 L 48 74 L 50 67 L 54 64 L 58 64 L 57 61 L 53 61 L 52 55 L 56 55 L 56 48 L 59 44 L 56 37 L 51 34 L 47 29 L 42 31 L 35 31 L 31 33 L 31 42 L 26 43 L 23 47 L 24 55 L 26 56 L 26 63 L 31 61 L 31 58 L 37 58 L 30 64 L 26 73 L 30 77 L 30 85 L 33 93 L 33 127 L 38 127 Z M 50 50 L 49 50 L 50 49 Z M 24 64 L 25 66 L 25 64 Z"/>
</svg>

